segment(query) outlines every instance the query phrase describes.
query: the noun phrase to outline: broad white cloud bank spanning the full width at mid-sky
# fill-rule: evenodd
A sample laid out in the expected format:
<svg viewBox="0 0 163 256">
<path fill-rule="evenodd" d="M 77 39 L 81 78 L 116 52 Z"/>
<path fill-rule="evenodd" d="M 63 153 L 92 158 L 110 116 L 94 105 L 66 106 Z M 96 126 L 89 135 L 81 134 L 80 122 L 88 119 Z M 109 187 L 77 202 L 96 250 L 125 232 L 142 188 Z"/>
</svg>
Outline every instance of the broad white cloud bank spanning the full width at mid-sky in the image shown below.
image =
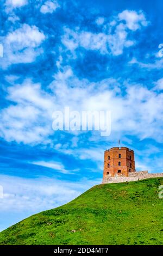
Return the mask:
<svg viewBox="0 0 163 256">
<path fill-rule="evenodd" d="M 8 89 L 7 99 L 13 101 L 13 105 L 1 111 L 1 137 L 7 141 L 49 143 L 49 135 L 54 133 L 53 111 L 64 111 L 64 107 L 69 106 L 70 111 L 111 111 L 111 138 L 125 133 L 139 139 L 163 141 L 163 94 L 142 84 L 125 86 L 125 95 L 122 95 L 120 83 L 112 78 L 96 83 L 79 80 L 68 66 L 55 74 L 48 88 L 50 93 L 31 81 L 16 84 Z M 86 136 L 86 132 L 71 133 L 74 137 L 82 133 Z M 89 136 L 89 139 L 102 139 L 98 131 L 92 134 L 96 137 Z M 77 141 L 74 144 L 77 145 Z"/>
</svg>

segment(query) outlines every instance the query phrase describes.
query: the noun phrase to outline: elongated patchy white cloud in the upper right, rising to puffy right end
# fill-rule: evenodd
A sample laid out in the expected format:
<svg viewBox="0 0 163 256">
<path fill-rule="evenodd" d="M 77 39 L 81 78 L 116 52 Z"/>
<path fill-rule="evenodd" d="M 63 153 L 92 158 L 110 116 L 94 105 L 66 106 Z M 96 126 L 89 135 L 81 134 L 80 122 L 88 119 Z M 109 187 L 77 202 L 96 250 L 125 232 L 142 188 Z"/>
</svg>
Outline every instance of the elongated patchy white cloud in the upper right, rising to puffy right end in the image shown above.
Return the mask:
<svg viewBox="0 0 163 256">
<path fill-rule="evenodd" d="M 135 44 L 135 40 L 128 39 L 128 36 L 137 29 L 147 26 L 148 23 L 142 12 L 136 13 L 136 11 L 129 10 L 123 11 L 114 19 L 108 24 L 101 26 L 101 33 L 80 31 L 79 28 L 76 28 L 74 31 L 70 28 L 65 28 L 62 44 L 74 56 L 74 51 L 78 47 L 83 47 L 86 50 L 98 50 L 101 54 L 111 53 L 114 56 L 118 56 L 123 53 L 124 48 Z M 126 23 L 121 22 L 123 20 Z M 103 22 L 102 17 L 96 20 L 98 25 L 103 25 Z"/>
</svg>

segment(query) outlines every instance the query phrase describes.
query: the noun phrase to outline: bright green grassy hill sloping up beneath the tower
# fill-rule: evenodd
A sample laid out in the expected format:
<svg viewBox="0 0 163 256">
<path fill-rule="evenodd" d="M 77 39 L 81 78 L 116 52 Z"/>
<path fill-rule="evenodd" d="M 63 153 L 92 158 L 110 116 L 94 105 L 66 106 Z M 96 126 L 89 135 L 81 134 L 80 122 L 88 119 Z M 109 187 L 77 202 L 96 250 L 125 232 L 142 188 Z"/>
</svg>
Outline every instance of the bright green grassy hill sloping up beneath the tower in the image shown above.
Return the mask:
<svg viewBox="0 0 163 256">
<path fill-rule="evenodd" d="M 163 178 L 97 185 L 0 233 L 0 245 L 162 245 Z"/>
</svg>

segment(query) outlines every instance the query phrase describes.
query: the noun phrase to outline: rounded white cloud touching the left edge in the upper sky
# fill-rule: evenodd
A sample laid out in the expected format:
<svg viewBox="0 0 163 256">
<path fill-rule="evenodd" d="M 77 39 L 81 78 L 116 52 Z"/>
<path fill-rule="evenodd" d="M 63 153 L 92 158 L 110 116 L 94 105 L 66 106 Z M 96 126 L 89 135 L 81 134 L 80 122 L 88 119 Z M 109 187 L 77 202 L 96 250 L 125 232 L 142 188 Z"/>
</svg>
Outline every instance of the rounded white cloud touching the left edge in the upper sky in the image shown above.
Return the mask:
<svg viewBox="0 0 163 256">
<path fill-rule="evenodd" d="M 23 24 L 3 38 L 4 56 L 0 60 L 2 68 L 11 64 L 33 62 L 42 50 L 39 47 L 45 35 L 36 26 Z"/>
</svg>

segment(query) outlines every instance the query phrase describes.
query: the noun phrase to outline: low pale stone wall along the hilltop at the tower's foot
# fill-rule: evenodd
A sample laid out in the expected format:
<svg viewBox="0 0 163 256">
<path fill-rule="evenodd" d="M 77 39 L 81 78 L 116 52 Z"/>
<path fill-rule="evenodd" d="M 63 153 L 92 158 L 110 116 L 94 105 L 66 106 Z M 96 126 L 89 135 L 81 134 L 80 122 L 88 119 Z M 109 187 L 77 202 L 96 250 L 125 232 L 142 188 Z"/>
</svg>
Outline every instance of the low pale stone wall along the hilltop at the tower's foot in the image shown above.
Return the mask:
<svg viewBox="0 0 163 256">
<path fill-rule="evenodd" d="M 141 172 L 129 173 L 129 176 L 110 176 L 108 175 L 103 179 L 102 183 L 120 183 L 120 182 L 129 182 L 129 181 L 137 181 L 149 178 L 158 178 L 163 177 L 163 173 L 148 173 L 147 170 L 142 170 Z"/>
</svg>

